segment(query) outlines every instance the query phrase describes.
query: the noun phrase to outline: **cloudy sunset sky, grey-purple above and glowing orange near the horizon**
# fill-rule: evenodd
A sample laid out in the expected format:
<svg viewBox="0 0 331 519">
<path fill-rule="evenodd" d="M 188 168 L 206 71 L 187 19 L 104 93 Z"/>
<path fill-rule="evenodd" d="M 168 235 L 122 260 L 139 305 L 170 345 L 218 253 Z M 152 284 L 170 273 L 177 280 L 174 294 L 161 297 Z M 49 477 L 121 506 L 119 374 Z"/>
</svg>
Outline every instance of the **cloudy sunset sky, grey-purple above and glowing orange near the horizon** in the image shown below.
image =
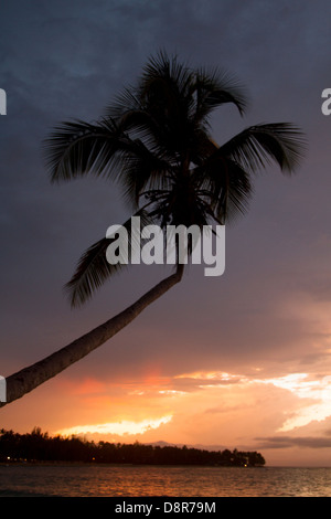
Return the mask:
<svg viewBox="0 0 331 519">
<path fill-rule="evenodd" d="M 12 0 L 0 7 L 0 374 L 56 351 L 167 276 L 132 266 L 84 308 L 63 286 L 81 254 L 130 214 L 95 178 L 51 186 L 42 140 L 97 119 L 150 55 L 227 70 L 244 118 L 213 118 L 221 145 L 290 121 L 308 151 L 296 176 L 255 179 L 226 227 L 226 266 L 180 285 L 97 351 L 0 410 L 0 427 L 260 452 L 268 465 L 331 466 L 331 4 L 328 0 Z"/>
</svg>

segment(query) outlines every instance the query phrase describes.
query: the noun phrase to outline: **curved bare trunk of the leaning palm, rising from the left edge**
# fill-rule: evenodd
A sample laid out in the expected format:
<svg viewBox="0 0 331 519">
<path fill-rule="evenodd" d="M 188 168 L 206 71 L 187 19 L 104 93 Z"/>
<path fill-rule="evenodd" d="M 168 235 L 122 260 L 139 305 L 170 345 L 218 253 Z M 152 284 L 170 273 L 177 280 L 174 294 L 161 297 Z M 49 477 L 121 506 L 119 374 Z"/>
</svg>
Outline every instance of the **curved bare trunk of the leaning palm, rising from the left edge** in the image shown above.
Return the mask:
<svg viewBox="0 0 331 519">
<path fill-rule="evenodd" d="M 88 333 L 82 336 L 61 350 L 52 353 L 45 359 L 24 368 L 21 371 L 8 377 L 7 383 L 7 402 L 0 403 L 3 406 L 14 400 L 20 399 L 25 393 L 46 382 L 49 379 L 61 373 L 74 362 L 83 359 L 93 350 L 105 343 L 113 336 L 118 333 L 122 328 L 129 325 L 139 314 L 151 303 L 161 297 L 173 285 L 179 283 L 183 275 L 183 265 L 179 265 L 177 272 L 167 277 L 140 299 L 129 306 L 127 309 L 113 317 L 108 321 L 99 325 Z"/>
</svg>

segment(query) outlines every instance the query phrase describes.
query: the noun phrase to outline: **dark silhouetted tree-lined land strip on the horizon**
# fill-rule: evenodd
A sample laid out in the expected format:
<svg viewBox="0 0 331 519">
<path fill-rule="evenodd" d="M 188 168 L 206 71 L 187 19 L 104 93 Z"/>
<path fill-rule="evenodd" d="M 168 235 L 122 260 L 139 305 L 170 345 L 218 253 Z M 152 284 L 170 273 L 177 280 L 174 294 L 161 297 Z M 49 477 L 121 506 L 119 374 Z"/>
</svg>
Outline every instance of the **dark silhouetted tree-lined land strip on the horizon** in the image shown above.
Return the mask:
<svg viewBox="0 0 331 519">
<path fill-rule="evenodd" d="M 81 462 L 140 465 L 264 466 L 257 452 L 206 451 L 186 446 L 88 442 L 76 436 L 51 437 L 35 427 L 31 433 L 0 431 L 0 462 Z"/>
</svg>

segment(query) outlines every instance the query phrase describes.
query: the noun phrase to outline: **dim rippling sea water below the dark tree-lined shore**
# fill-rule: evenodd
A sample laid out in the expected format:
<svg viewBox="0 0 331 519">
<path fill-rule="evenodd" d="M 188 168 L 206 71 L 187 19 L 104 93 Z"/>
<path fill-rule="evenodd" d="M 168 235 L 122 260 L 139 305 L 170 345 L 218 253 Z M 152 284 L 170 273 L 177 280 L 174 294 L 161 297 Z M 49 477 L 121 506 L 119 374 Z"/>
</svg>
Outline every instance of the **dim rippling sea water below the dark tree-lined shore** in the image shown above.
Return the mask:
<svg viewBox="0 0 331 519">
<path fill-rule="evenodd" d="M 0 466 L 0 497 L 331 497 L 331 468 Z"/>
</svg>

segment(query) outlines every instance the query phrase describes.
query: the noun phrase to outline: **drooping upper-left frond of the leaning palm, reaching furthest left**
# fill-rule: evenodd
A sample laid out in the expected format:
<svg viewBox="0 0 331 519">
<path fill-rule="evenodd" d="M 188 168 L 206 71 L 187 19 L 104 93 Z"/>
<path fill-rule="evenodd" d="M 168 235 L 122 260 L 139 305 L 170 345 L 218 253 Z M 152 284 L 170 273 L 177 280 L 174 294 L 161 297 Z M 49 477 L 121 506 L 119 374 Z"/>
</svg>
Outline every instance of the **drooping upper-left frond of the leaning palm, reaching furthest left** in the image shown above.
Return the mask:
<svg viewBox="0 0 331 519">
<path fill-rule="evenodd" d="M 87 173 L 111 178 L 121 181 L 134 204 L 148 178 L 163 173 L 168 167 L 140 139 L 130 139 L 111 120 L 98 126 L 64 123 L 44 146 L 52 182 Z"/>
</svg>

